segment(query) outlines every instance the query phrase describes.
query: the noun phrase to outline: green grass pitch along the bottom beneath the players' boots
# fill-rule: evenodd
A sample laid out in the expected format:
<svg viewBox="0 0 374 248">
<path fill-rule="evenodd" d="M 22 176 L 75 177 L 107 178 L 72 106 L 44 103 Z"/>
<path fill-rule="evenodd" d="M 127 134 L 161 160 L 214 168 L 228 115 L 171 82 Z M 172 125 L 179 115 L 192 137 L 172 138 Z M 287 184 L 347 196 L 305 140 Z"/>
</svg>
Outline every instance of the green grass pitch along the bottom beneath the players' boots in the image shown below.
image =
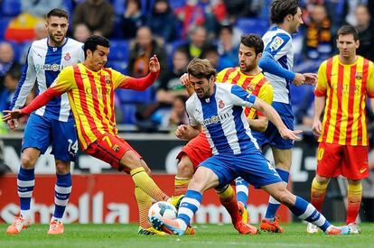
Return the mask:
<svg viewBox="0 0 374 248">
<path fill-rule="evenodd" d="M 137 225 L 65 225 L 62 235 L 47 235 L 48 225 L 32 225 L 8 235 L 0 225 L 0 247 L 373 247 L 374 224 L 360 224 L 361 234 L 307 234 L 306 224 L 282 225 L 285 234 L 239 235 L 231 225 L 194 225 L 194 236 L 141 236 Z M 258 225 L 257 225 L 258 226 Z"/>
</svg>

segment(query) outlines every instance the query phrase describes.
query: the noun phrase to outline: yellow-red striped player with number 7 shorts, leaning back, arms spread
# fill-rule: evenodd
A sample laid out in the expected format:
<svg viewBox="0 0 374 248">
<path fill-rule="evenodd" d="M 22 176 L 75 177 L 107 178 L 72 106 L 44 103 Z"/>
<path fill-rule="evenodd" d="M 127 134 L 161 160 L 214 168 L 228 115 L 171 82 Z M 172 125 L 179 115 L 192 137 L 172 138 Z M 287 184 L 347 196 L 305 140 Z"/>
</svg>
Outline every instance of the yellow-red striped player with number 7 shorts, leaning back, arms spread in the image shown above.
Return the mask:
<svg viewBox="0 0 374 248">
<path fill-rule="evenodd" d="M 154 55 L 149 61 L 150 73 L 145 78 L 127 77 L 114 69 L 104 68 L 108 60 L 109 41 L 92 35 L 84 43 L 86 60 L 61 70 L 51 87 L 37 96 L 23 109 L 5 111 L 3 120 L 17 119 L 29 115 L 45 106 L 56 96 L 68 93 L 69 102 L 78 131 L 82 150 L 113 168 L 131 174 L 136 184 L 136 201 L 139 208 L 140 226 L 138 234 L 164 234 L 155 230 L 148 222 L 148 209 L 152 198 L 169 200 L 174 206 L 179 197 L 167 197 L 147 173 L 150 172 L 142 157 L 117 135 L 114 112 L 114 90 L 130 88 L 145 90 L 157 78 L 160 63 Z M 152 198 L 151 198 L 152 197 Z"/>
</svg>

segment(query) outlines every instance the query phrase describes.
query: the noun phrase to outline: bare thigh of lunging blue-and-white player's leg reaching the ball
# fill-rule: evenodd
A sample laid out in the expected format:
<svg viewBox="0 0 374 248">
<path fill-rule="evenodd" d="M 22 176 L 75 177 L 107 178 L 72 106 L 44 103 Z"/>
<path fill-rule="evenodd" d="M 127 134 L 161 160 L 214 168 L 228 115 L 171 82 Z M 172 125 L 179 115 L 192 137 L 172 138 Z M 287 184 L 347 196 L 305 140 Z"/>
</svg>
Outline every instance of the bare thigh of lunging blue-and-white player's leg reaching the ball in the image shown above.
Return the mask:
<svg viewBox="0 0 374 248">
<path fill-rule="evenodd" d="M 219 178 L 217 174 L 207 167 L 199 167 L 193 175 L 188 189 L 204 192 L 209 188 L 216 188 L 219 186 Z"/>
</svg>

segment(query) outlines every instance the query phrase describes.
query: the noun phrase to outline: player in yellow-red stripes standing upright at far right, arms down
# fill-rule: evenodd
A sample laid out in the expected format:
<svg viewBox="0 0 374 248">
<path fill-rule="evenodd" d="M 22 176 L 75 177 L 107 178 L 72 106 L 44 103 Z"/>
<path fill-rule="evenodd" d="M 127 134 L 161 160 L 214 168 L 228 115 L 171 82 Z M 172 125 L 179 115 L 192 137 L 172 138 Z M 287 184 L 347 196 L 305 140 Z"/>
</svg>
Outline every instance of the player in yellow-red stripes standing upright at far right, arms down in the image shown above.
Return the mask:
<svg viewBox="0 0 374 248">
<path fill-rule="evenodd" d="M 330 179 L 339 175 L 347 178 L 346 224 L 358 234 L 356 217 L 361 205 L 361 179 L 369 177 L 365 106 L 369 96 L 374 110 L 374 65 L 356 54 L 360 41 L 354 27 L 342 26 L 336 42 L 339 54 L 323 61 L 315 89 L 313 133 L 320 143 L 311 203 L 321 211 Z M 307 226 L 308 233 L 317 231 L 315 226 Z"/>
</svg>

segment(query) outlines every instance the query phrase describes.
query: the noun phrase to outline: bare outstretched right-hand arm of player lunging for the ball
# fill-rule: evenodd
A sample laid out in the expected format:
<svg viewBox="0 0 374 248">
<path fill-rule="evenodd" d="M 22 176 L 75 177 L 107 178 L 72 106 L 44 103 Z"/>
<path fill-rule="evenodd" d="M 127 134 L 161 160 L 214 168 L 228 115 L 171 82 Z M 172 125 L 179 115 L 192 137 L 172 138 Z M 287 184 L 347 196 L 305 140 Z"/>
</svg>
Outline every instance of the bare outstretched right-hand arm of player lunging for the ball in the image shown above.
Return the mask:
<svg viewBox="0 0 374 248">
<path fill-rule="evenodd" d="M 283 123 L 281 117 L 276 112 L 276 109 L 274 107 L 268 105 L 263 100 L 256 97 L 256 101 L 253 104 L 255 109 L 258 111 L 261 111 L 266 117 L 276 125 L 276 128 L 278 129 L 278 132 L 281 134 L 282 138 L 293 140 L 293 141 L 299 141 L 301 138 L 298 136 L 298 134 L 303 133 L 301 130 L 289 130 L 285 124 Z"/>
</svg>

